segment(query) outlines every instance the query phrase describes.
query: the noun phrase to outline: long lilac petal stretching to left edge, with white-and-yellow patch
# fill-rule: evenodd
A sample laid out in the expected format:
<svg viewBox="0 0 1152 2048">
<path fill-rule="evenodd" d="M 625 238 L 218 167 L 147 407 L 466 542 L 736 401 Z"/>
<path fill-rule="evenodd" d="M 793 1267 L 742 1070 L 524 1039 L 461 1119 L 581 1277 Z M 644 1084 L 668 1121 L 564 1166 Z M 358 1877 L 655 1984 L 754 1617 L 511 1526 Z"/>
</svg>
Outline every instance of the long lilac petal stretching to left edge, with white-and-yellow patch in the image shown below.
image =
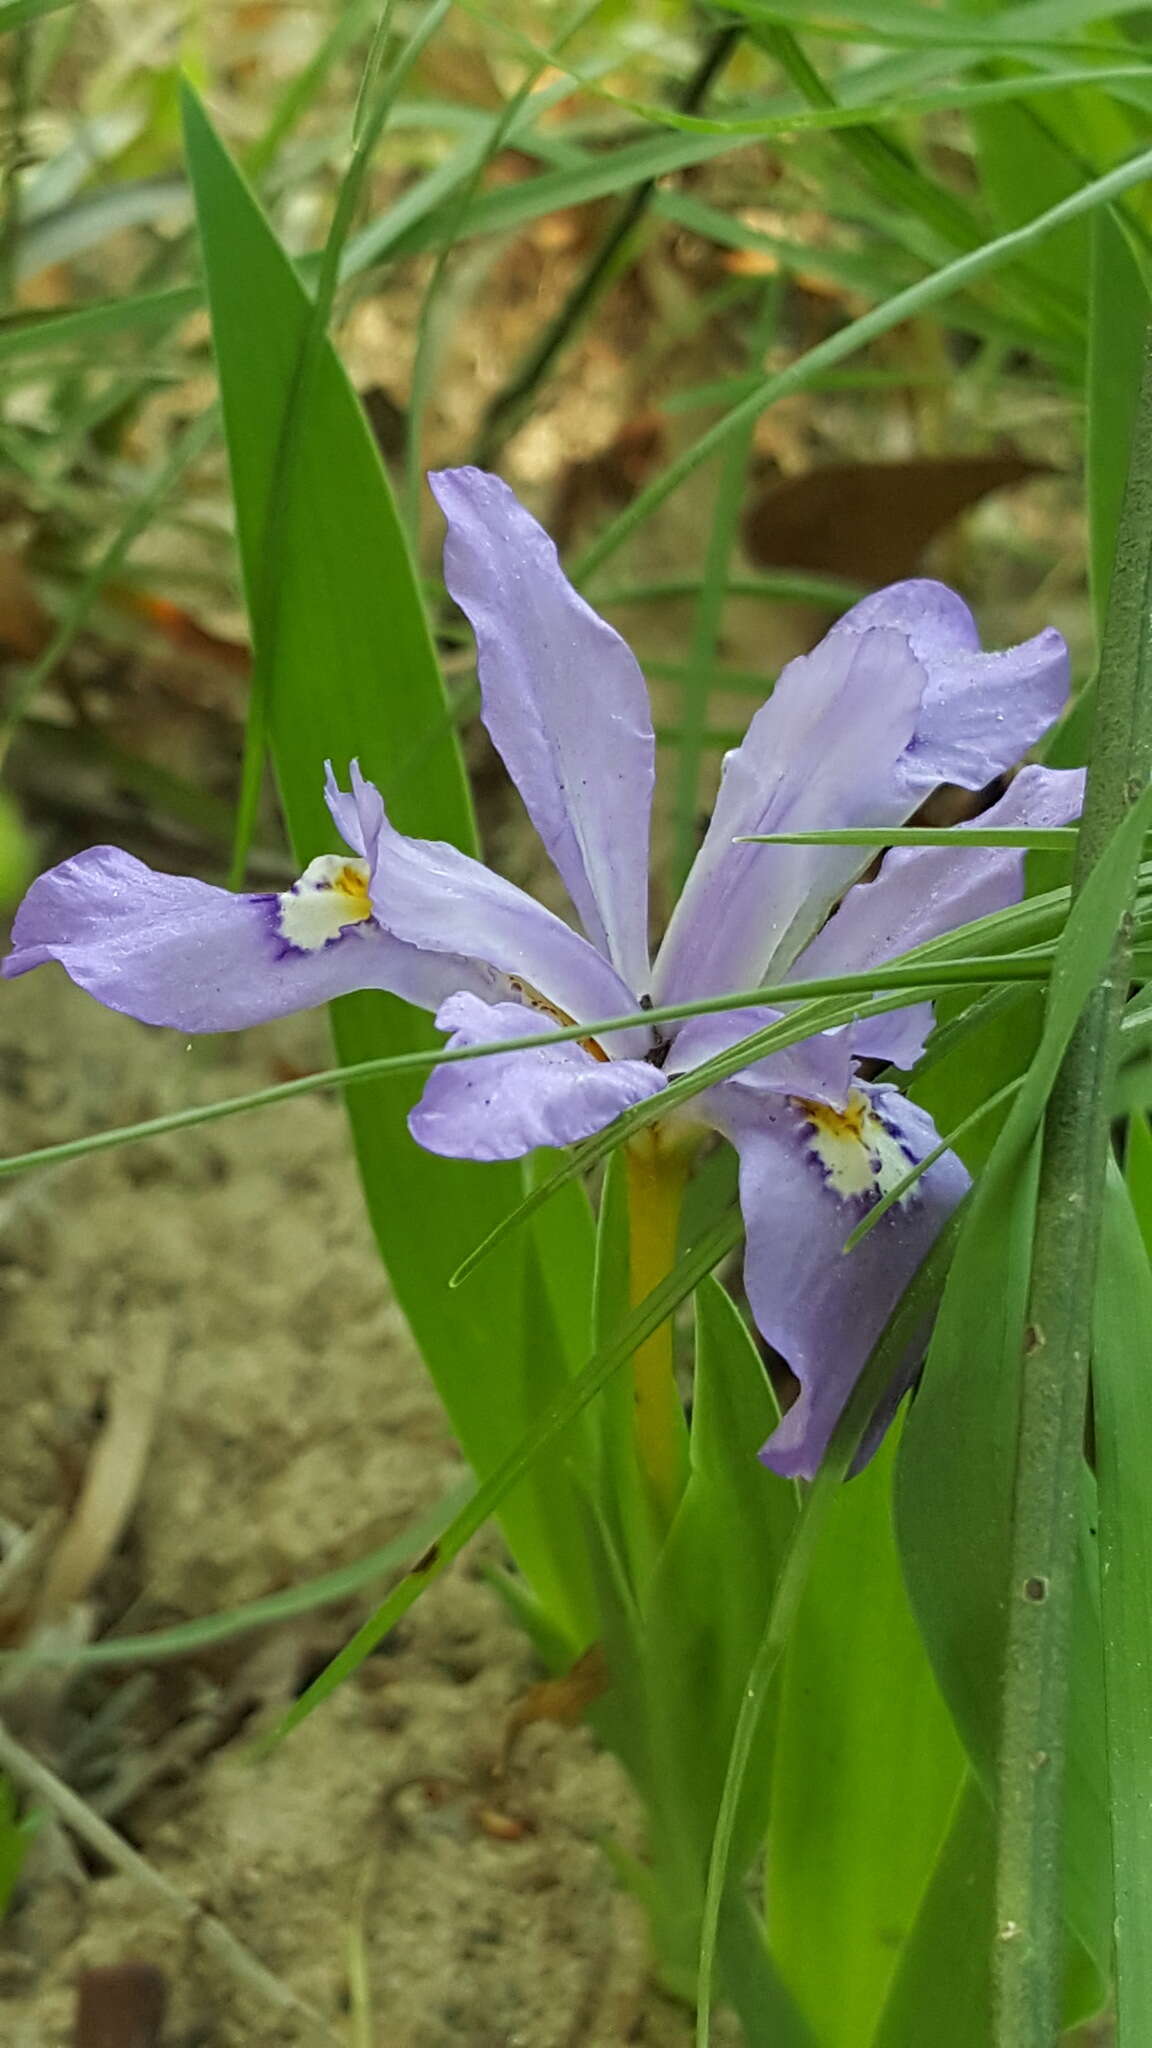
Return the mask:
<svg viewBox="0 0 1152 2048">
<path fill-rule="evenodd" d="M 322 856 L 283 895 L 232 895 L 158 874 L 119 846 L 49 868 L 12 926 L 6 977 L 59 961 L 109 1010 L 172 1030 L 242 1030 L 351 989 L 437 1008 L 471 965 L 377 928 L 367 864 Z"/>
</svg>

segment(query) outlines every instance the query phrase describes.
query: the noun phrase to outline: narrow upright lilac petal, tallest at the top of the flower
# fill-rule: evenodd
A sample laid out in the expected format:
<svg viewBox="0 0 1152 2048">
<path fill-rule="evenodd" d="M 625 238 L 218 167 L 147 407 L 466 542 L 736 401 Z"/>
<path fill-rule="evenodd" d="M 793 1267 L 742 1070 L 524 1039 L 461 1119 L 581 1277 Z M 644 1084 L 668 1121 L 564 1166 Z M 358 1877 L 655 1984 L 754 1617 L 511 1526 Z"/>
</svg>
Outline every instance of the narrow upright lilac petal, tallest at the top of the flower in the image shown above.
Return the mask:
<svg viewBox="0 0 1152 2048">
<path fill-rule="evenodd" d="M 588 938 L 648 985 L 652 715 L 625 641 L 572 590 L 500 477 L 443 469 L 445 582 L 471 623 L 484 723 Z"/>
</svg>

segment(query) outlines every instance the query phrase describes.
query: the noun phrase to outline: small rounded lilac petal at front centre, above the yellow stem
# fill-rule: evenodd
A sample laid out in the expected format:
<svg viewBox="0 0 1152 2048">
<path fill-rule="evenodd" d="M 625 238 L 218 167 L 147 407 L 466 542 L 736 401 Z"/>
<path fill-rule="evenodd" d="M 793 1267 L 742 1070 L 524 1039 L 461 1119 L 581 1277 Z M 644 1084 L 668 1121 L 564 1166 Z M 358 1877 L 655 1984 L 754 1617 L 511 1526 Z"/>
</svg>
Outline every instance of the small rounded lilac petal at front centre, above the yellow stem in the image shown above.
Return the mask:
<svg viewBox="0 0 1152 2048">
<path fill-rule="evenodd" d="M 437 1024 L 451 1032 L 451 1051 L 547 1030 L 519 1004 L 484 1004 L 465 993 L 449 995 Z M 418 1145 L 449 1159 L 521 1159 L 537 1145 L 592 1137 L 662 1087 L 664 1075 L 642 1059 L 594 1059 L 564 1040 L 437 1067 L 408 1128 Z"/>
</svg>

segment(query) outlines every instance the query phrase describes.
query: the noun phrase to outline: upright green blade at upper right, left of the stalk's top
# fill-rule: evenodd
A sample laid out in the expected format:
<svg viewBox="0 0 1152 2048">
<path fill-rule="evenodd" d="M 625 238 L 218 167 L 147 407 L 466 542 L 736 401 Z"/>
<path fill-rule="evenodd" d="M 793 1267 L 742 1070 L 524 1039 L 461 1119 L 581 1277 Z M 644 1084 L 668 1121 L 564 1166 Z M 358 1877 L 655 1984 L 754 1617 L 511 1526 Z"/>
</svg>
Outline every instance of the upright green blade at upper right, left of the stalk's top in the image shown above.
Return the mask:
<svg viewBox="0 0 1152 2048">
<path fill-rule="evenodd" d="M 1084 471 L 1088 565 L 1103 631 L 1150 305 L 1144 276 L 1111 207 L 1093 215 Z"/>
</svg>

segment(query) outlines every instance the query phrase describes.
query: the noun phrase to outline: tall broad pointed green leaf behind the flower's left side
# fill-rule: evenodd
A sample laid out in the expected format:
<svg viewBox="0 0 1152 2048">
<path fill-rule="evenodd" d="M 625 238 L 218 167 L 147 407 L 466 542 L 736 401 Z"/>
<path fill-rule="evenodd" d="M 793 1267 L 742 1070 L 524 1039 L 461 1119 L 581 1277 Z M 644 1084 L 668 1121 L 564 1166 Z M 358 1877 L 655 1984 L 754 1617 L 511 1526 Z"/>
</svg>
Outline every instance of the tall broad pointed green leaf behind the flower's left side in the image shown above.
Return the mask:
<svg viewBox="0 0 1152 2048">
<path fill-rule="evenodd" d="M 197 195 L 230 442 L 240 555 L 248 592 L 262 588 L 262 547 L 281 430 L 310 303 L 260 209 L 203 111 L 187 102 L 189 168 Z M 387 477 L 361 406 L 322 340 L 295 434 L 277 522 L 275 688 L 269 737 L 299 862 L 332 846 L 322 797 L 324 760 L 359 756 L 389 797 L 402 831 L 474 848 L 467 786 L 428 627 Z M 256 629 L 260 621 L 256 618 Z M 441 725 L 435 748 L 400 788 L 392 766 Z M 344 1065 L 373 1057 L 430 1065 L 428 1020 L 383 995 L 334 1006 Z M 463 1300 L 449 1274 L 519 1200 L 515 1167 L 433 1159 L 412 1145 L 404 1108 L 412 1085 L 359 1087 L 348 1116 L 369 1214 L 398 1300 L 480 1477 L 523 1434 L 521 1348 L 529 1343 L 525 1245 L 508 1247 L 482 1292 Z M 492 1331 L 500 1331 L 494 1354 Z M 502 1360 L 508 1370 L 500 1370 Z M 556 1618 L 580 1634 L 566 1581 L 578 1573 L 580 1532 L 556 1497 L 531 1483 L 508 1503 L 512 1550 Z"/>
</svg>

